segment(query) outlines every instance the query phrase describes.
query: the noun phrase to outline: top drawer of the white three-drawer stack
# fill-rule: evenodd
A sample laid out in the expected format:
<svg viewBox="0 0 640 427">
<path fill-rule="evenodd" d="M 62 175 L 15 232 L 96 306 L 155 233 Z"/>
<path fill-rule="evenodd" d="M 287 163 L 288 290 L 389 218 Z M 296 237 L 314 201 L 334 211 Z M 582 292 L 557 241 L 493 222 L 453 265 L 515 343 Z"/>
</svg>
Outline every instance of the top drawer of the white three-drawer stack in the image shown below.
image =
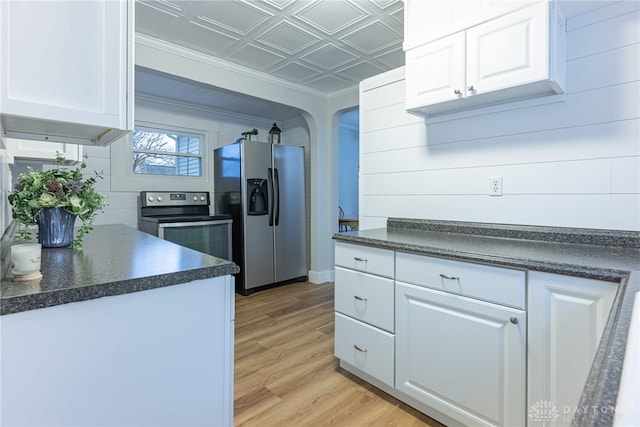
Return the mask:
<svg viewBox="0 0 640 427">
<path fill-rule="evenodd" d="M 393 251 L 336 242 L 336 265 L 379 276 L 393 277 Z"/>
</svg>

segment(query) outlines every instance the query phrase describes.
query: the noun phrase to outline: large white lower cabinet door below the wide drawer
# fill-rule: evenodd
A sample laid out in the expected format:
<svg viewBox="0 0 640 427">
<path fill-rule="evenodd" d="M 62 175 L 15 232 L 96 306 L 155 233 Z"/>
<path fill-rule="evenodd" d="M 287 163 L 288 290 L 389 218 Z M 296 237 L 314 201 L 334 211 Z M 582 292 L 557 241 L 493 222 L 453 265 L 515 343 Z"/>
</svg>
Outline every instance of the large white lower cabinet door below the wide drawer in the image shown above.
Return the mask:
<svg viewBox="0 0 640 427">
<path fill-rule="evenodd" d="M 396 282 L 396 388 L 465 425 L 525 423 L 522 310 Z"/>
</svg>

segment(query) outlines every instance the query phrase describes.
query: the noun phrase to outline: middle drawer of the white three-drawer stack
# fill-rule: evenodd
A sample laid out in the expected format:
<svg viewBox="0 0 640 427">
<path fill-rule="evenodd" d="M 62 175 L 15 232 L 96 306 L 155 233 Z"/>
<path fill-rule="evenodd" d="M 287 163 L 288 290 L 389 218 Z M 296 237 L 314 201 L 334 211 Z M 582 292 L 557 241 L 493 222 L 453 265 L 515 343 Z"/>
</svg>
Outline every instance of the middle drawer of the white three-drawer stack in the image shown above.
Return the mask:
<svg viewBox="0 0 640 427">
<path fill-rule="evenodd" d="M 393 332 L 393 301 L 393 280 L 336 267 L 336 311 Z"/>
</svg>

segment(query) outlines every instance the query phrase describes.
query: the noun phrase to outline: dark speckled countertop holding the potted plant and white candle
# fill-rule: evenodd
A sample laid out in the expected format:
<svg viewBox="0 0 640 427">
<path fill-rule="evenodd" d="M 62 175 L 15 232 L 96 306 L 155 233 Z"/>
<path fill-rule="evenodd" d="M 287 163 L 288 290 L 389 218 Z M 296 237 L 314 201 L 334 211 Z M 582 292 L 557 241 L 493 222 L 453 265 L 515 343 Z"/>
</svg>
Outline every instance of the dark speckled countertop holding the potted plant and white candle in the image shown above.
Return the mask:
<svg viewBox="0 0 640 427">
<path fill-rule="evenodd" d="M 0 314 L 235 274 L 236 264 L 125 225 L 99 225 L 81 251 L 42 250 L 42 279 L 0 284 Z"/>
</svg>

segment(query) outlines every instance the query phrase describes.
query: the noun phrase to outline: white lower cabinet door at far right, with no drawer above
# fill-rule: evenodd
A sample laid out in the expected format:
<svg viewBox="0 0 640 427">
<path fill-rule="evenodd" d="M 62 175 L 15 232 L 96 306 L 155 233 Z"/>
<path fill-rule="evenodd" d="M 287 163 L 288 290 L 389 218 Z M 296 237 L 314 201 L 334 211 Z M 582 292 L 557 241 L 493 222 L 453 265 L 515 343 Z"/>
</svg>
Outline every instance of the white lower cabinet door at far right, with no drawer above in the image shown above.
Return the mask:
<svg viewBox="0 0 640 427">
<path fill-rule="evenodd" d="M 530 426 L 571 424 L 617 290 L 612 282 L 529 273 L 528 407 L 542 409 L 530 414 Z"/>
</svg>

